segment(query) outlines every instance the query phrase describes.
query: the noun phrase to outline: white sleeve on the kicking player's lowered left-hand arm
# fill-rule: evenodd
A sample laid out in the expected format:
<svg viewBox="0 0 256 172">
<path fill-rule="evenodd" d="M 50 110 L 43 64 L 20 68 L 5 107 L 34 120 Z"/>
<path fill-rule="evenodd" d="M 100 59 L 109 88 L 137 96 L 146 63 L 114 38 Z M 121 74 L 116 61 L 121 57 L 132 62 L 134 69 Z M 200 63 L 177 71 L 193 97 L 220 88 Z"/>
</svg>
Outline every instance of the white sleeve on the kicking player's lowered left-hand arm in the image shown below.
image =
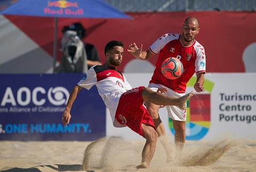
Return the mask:
<svg viewBox="0 0 256 172">
<path fill-rule="evenodd" d="M 90 68 L 86 73 L 85 73 L 85 77 L 83 77 L 78 83 L 77 85 L 86 88 L 86 89 L 90 89 L 93 85 L 95 85 L 97 83 L 97 74 L 94 71 L 93 67 Z"/>
</svg>

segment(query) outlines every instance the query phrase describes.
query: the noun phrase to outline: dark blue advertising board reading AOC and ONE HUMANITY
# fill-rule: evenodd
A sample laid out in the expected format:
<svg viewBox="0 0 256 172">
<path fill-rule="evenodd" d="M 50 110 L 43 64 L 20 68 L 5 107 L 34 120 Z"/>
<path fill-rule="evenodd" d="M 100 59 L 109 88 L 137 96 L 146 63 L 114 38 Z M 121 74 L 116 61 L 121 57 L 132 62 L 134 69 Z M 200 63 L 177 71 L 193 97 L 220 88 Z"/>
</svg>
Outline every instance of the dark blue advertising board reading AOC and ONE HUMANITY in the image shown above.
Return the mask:
<svg viewBox="0 0 256 172">
<path fill-rule="evenodd" d="M 68 126 L 69 93 L 83 74 L 0 75 L 0 140 L 92 141 L 106 136 L 106 108 L 97 88 L 82 89 Z"/>
</svg>

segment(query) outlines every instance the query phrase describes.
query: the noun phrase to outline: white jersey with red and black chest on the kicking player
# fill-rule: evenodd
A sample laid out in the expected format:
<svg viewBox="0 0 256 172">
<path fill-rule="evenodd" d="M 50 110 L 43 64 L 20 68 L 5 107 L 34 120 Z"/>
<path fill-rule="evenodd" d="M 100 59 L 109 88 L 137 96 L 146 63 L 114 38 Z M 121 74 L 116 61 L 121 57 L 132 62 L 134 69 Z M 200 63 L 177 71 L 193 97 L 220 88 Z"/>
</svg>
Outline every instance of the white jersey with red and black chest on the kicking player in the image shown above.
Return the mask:
<svg viewBox="0 0 256 172">
<path fill-rule="evenodd" d="M 119 98 L 124 92 L 132 89 L 122 72 L 107 68 L 105 65 L 91 67 L 77 85 L 88 90 L 93 85 L 97 86 L 99 95 L 109 109 L 113 122 Z"/>
</svg>

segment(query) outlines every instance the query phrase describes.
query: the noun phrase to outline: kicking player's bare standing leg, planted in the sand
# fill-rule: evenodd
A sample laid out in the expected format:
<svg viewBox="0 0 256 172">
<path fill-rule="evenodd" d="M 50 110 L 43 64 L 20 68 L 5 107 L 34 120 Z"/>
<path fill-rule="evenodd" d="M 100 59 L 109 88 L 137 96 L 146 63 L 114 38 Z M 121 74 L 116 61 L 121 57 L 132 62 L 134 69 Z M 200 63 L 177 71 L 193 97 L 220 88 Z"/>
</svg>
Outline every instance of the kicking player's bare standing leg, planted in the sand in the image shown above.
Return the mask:
<svg viewBox="0 0 256 172">
<path fill-rule="evenodd" d="M 156 150 L 158 136 L 156 130 L 150 125 L 142 123 L 141 128 L 144 137 L 146 138 L 146 144 L 142 150 L 141 164 L 138 165 L 137 168 L 148 168 Z"/>
</svg>

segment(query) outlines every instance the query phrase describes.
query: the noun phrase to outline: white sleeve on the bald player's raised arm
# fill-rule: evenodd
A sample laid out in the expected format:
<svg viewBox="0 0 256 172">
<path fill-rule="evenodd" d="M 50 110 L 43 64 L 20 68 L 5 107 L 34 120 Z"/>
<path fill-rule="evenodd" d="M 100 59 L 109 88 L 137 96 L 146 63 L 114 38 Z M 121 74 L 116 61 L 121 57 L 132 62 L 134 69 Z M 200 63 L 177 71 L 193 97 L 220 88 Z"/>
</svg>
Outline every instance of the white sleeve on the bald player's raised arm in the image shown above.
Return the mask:
<svg viewBox="0 0 256 172">
<path fill-rule="evenodd" d="M 173 39 L 178 39 L 179 38 L 179 34 L 165 34 L 163 36 L 161 36 L 160 38 L 158 38 L 150 47 L 149 50 L 153 53 L 153 54 L 158 54 L 163 48 L 164 46 L 169 43 L 171 40 Z"/>
</svg>

